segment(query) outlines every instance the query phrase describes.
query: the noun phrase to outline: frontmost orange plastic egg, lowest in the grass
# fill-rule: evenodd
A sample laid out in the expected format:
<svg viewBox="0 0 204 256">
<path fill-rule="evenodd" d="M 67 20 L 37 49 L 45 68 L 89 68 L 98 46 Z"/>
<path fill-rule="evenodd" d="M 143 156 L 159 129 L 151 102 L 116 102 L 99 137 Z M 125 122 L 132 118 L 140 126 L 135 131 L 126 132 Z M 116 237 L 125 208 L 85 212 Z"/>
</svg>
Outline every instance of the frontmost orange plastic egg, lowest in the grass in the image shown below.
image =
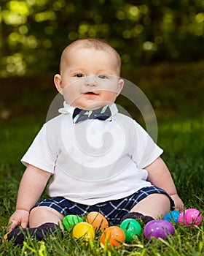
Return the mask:
<svg viewBox="0 0 204 256">
<path fill-rule="evenodd" d="M 125 241 L 125 233 L 122 228 L 117 226 L 111 226 L 103 231 L 100 239 L 100 244 L 102 247 L 107 246 L 122 246 Z"/>
</svg>

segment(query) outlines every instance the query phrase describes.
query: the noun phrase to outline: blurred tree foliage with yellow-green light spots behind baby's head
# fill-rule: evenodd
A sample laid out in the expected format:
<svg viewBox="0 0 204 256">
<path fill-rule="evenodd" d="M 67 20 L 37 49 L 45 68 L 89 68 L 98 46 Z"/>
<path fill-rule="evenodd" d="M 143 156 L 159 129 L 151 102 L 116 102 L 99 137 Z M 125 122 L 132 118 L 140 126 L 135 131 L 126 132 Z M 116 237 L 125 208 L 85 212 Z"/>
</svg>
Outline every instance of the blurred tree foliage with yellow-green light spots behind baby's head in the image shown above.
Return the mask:
<svg viewBox="0 0 204 256">
<path fill-rule="evenodd" d="M 204 57 L 203 0 L 1 0 L 0 77 L 58 69 L 81 37 L 106 39 L 126 67 Z"/>
</svg>

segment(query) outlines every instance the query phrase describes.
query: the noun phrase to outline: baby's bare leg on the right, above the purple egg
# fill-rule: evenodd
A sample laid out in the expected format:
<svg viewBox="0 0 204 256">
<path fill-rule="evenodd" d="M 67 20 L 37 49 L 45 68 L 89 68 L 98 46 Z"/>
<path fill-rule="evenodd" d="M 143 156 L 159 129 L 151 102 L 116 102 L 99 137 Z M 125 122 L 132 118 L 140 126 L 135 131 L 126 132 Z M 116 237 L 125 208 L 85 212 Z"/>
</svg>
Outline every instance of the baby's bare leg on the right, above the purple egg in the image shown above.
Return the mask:
<svg viewBox="0 0 204 256">
<path fill-rule="evenodd" d="M 130 210 L 130 212 L 138 212 L 153 219 L 164 217 L 168 211 L 170 211 L 170 200 L 164 194 L 148 195 Z"/>
</svg>

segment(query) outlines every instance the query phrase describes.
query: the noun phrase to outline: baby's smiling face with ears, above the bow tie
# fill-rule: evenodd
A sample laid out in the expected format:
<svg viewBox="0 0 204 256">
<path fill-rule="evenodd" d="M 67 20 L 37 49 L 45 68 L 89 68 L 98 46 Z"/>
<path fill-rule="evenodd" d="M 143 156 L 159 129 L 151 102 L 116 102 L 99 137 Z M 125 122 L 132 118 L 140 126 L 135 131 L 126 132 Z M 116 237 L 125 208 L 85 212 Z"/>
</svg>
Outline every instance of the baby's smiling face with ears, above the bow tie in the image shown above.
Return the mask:
<svg viewBox="0 0 204 256">
<path fill-rule="evenodd" d="M 95 109 L 111 104 L 122 90 L 114 52 L 92 48 L 68 50 L 55 86 L 74 108 Z"/>
</svg>

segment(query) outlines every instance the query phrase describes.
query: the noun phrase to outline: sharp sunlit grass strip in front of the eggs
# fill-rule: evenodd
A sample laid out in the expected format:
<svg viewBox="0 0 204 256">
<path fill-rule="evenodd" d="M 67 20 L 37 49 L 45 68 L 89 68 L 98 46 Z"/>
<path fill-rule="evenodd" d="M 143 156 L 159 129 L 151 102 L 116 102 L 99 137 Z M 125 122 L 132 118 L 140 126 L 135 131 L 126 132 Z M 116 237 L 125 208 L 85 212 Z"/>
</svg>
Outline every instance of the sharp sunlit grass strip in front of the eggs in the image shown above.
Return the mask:
<svg viewBox="0 0 204 256">
<path fill-rule="evenodd" d="M 120 248 L 101 248 L 97 234 L 93 243 L 80 245 L 66 233 L 63 239 L 55 237 L 44 242 L 29 240 L 23 248 L 12 249 L 11 242 L 4 244 L 4 255 L 203 255 L 204 234 L 201 227 L 177 227 L 173 236 L 167 239 L 146 241 L 143 235 Z M 40 250 L 42 254 L 40 254 Z"/>
</svg>

